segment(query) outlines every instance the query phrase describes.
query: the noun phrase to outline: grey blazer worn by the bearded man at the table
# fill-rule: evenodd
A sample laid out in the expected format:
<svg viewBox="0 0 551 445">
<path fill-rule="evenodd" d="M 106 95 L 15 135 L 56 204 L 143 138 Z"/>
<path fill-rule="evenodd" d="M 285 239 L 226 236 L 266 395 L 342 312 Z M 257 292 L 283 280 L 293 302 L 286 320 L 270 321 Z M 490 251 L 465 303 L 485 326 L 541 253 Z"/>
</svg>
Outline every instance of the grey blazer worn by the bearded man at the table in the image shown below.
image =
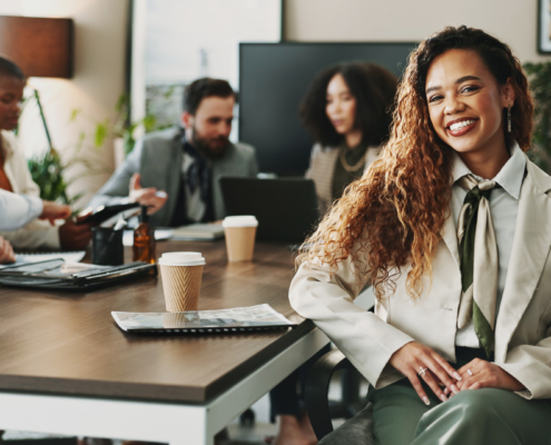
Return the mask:
<svg viewBox="0 0 551 445">
<path fill-rule="evenodd" d="M 141 175 L 141 187 L 155 187 L 168 194 L 165 206 L 151 215 L 154 226 L 168 227 L 177 206 L 178 191 L 183 180 L 183 129 L 170 128 L 146 135 L 136 142 L 125 162 L 92 197 L 90 206 L 116 205 L 128 201 L 129 182 L 135 172 Z M 210 161 L 213 172 L 213 199 L 216 219 L 226 216 L 218 178 L 220 176 L 252 176 L 258 172 L 254 147 L 246 144 L 230 144 L 225 155 Z"/>
</svg>

